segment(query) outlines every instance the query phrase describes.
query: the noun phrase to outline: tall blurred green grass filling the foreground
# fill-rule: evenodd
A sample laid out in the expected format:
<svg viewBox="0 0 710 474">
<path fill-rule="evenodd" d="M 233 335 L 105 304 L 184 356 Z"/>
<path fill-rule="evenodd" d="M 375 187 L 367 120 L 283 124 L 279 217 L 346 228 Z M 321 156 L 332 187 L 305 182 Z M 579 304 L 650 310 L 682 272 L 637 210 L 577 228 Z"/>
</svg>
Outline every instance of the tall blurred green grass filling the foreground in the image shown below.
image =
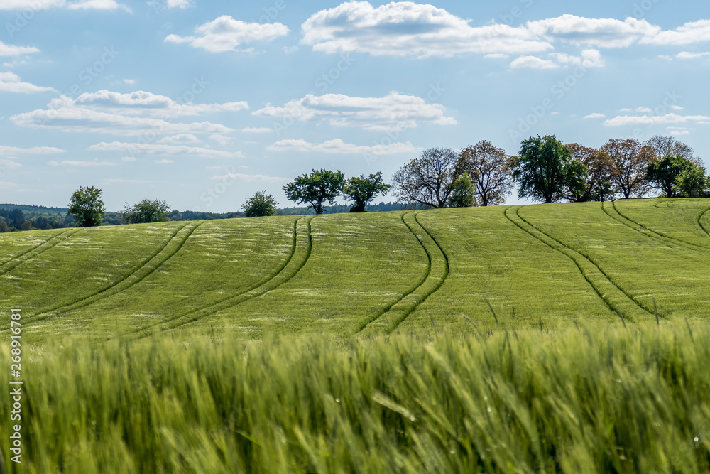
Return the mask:
<svg viewBox="0 0 710 474">
<path fill-rule="evenodd" d="M 4 461 L 43 474 L 706 472 L 709 367 L 710 325 L 682 319 L 486 335 L 72 337 L 23 348 L 23 463 L 5 447 Z"/>
</svg>

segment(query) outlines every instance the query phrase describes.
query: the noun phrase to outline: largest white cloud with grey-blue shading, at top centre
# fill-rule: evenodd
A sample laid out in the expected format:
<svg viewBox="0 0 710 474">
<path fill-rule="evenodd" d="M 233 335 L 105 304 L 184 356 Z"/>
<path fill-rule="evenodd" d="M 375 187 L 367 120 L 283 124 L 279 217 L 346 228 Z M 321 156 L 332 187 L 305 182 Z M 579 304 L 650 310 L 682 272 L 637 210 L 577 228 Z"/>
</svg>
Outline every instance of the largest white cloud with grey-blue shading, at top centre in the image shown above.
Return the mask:
<svg viewBox="0 0 710 474">
<path fill-rule="evenodd" d="M 444 9 L 409 1 L 377 8 L 349 1 L 312 15 L 301 26 L 301 43 L 325 53 L 449 57 L 461 53 L 540 53 L 552 49 L 525 27 L 473 27 Z"/>
</svg>

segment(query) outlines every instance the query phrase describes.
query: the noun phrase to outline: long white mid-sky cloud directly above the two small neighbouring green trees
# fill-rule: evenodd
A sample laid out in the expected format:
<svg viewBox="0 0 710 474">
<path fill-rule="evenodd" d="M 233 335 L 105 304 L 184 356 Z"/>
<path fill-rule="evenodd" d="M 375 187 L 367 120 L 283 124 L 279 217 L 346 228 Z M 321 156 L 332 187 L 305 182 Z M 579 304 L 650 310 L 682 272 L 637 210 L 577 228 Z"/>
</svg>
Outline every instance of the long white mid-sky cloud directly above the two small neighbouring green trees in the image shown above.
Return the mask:
<svg viewBox="0 0 710 474">
<path fill-rule="evenodd" d="M 444 114 L 444 106 L 413 95 L 390 92 L 385 97 L 349 97 L 342 94 L 306 95 L 283 107 L 267 104 L 253 112 L 261 117 L 291 117 L 300 122 L 328 122 L 365 130 L 415 128 L 420 123 L 457 124 Z"/>
</svg>

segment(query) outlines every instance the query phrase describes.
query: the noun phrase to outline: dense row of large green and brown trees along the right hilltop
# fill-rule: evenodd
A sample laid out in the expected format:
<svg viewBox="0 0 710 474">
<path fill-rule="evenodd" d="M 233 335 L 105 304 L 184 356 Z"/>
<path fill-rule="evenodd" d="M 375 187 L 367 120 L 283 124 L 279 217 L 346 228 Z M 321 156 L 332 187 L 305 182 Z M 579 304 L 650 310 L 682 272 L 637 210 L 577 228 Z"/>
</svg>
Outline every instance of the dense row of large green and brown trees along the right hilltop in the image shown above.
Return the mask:
<svg viewBox="0 0 710 474">
<path fill-rule="evenodd" d="M 562 144 L 555 136 L 530 136 L 518 156 L 489 141 L 457 153 L 424 151 L 393 176 L 401 202 L 425 208 L 503 204 L 518 198 L 555 203 L 643 198 L 652 190 L 674 197 L 706 197 L 710 178 L 693 150 L 672 136 L 611 139 L 601 148 Z"/>
</svg>

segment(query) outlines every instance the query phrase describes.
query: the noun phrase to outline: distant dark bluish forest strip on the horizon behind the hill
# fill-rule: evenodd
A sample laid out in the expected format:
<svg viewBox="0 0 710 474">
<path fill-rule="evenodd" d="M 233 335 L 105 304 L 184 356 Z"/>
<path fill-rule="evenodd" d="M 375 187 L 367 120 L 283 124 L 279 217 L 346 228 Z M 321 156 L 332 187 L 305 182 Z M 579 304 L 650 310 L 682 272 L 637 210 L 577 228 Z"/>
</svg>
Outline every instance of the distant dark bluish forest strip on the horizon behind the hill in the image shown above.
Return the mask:
<svg viewBox="0 0 710 474">
<path fill-rule="evenodd" d="M 401 210 L 400 203 L 380 203 L 368 205 L 368 212 L 386 212 Z M 348 205 L 332 205 L 325 208 L 326 214 L 349 212 Z M 276 215 L 308 215 L 315 214 L 310 208 L 283 208 L 276 211 Z M 202 212 L 202 211 L 177 211 L 170 212 L 170 220 L 213 220 L 232 219 L 244 217 L 244 212 Z M 102 219 L 102 225 L 125 224 L 122 212 L 107 212 Z M 18 230 L 33 229 L 62 229 L 73 227 L 75 221 L 67 215 L 67 208 L 47 208 L 37 205 L 0 204 L 0 232 L 14 232 Z"/>
</svg>

